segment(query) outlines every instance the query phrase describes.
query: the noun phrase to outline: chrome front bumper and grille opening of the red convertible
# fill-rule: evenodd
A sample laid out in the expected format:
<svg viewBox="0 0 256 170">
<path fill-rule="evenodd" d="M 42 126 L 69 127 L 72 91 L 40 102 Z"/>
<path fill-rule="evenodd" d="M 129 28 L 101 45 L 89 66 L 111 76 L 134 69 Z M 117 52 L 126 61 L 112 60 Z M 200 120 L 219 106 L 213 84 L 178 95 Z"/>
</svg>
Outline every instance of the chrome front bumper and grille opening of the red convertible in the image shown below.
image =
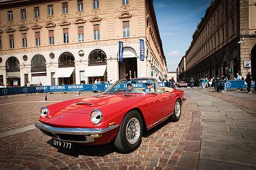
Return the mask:
<svg viewBox="0 0 256 170">
<path fill-rule="evenodd" d="M 54 137 L 61 141 L 76 142 L 76 143 L 92 143 L 95 137 L 100 137 L 101 134 L 106 133 L 119 127 L 119 124 L 107 127 L 105 129 L 91 129 L 91 128 L 61 128 L 53 127 L 43 123 L 35 124 L 38 129 L 48 136 Z"/>
</svg>

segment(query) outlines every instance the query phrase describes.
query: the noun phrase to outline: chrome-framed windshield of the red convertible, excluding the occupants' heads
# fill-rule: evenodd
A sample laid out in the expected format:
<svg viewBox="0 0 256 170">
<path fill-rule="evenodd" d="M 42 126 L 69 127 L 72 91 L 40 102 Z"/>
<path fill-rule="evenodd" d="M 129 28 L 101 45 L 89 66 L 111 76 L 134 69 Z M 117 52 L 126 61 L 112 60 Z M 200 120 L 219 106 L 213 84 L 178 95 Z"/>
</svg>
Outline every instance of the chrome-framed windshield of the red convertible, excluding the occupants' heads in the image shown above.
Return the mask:
<svg viewBox="0 0 256 170">
<path fill-rule="evenodd" d="M 147 90 L 146 82 L 151 81 L 153 83 L 154 90 Z M 127 88 L 127 83 L 133 85 L 133 90 Z M 158 84 L 153 78 L 135 78 L 131 80 L 117 80 L 111 87 L 106 89 L 103 94 L 116 94 L 116 93 L 146 93 L 155 94 L 159 91 Z"/>
</svg>

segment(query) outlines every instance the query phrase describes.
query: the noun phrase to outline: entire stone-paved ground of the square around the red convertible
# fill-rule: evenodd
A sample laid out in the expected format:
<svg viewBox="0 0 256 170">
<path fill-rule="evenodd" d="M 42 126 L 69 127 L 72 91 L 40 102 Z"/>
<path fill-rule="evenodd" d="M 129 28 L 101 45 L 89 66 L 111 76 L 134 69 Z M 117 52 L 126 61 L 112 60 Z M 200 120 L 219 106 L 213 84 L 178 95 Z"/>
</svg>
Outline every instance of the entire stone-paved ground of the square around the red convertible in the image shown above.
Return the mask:
<svg viewBox="0 0 256 170">
<path fill-rule="evenodd" d="M 120 154 L 113 145 L 53 147 L 33 126 L 41 107 L 92 92 L 0 97 L 0 169 L 256 169 L 256 95 L 189 89 L 179 122 L 143 134 L 141 146 Z M 255 106 L 254 106 L 255 105 Z"/>
</svg>

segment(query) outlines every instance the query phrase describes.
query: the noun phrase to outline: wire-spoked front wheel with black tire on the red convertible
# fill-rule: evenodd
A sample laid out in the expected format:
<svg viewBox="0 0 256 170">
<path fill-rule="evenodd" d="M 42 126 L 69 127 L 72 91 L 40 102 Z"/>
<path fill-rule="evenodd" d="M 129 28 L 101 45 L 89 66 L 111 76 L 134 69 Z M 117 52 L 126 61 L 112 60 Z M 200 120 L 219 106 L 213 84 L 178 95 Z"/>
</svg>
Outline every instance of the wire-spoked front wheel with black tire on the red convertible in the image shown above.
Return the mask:
<svg viewBox="0 0 256 170">
<path fill-rule="evenodd" d="M 133 110 L 128 112 L 121 123 L 114 145 L 121 153 L 135 151 L 141 144 L 143 121 L 140 113 Z"/>
</svg>

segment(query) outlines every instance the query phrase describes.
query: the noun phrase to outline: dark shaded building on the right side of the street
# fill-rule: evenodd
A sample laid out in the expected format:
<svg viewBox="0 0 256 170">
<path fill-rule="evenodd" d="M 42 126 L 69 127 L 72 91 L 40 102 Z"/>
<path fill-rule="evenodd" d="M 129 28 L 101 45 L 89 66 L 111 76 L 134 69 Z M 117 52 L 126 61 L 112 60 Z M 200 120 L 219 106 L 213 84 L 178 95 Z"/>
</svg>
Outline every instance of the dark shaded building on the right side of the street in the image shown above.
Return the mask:
<svg viewBox="0 0 256 170">
<path fill-rule="evenodd" d="M 215 0 L 185 58 L 186 80 L 256 73 L 256 1 Z"/>
</svg>

